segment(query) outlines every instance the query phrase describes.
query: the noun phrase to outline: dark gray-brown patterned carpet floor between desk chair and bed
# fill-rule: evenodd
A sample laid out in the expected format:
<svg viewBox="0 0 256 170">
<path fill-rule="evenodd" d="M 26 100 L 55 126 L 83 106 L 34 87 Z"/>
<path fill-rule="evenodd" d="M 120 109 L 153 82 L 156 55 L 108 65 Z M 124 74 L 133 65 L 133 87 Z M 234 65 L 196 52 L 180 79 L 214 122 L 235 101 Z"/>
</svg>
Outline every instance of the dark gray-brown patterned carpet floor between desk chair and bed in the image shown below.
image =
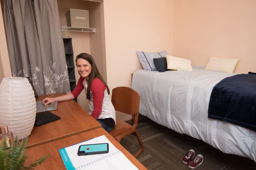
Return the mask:
<svg viewBox="0 0 256 170">
<path fill-rule="evenodd" d="M 189 149 L 204 156 L 197 170 L 256 170 L 256 163 L 249 158 L 225 154 L 202 140 L 177 133 L 149 119 L 139 121 L 137 129 L 145 145 L 137 159 L 149 170 L 188 170 L 182 159 Z M 133 155 L 140 149 L 134 135 L 122 138 L 120 143 Z"/>
</svg>

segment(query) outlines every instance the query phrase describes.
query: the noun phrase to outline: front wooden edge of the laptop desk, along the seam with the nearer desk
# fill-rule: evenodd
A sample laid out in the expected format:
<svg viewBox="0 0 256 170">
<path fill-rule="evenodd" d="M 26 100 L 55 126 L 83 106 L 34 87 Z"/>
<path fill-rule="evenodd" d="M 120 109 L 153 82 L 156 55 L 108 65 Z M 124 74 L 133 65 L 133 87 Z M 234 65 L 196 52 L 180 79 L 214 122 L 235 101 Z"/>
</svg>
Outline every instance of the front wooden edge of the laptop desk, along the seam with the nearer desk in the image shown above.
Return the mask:
<svg viewBox="0 0 256 170">
<path fill-rule="evenodd" d="M 69 136 L 73 136 L 73 135 L 76 135 L 76 134 L 80 134 L 80 133 L 83 133 L 83 132 L 87 132 L 87 131 L 90 131 L 90 130 L 94 130 L 94 129 L 97 129 L 97 128 L 101 128 L 101 125 L 93 127 L 93 128 L 88 128 L 88 129 L 85 129 L 85 130 L 80 130 L 80 131 L 77 131 L 75 133 L 69 133 L 69 134 L 66 134 L 66 135 L 63 135 L 63 136 L 59 136 L 59 137 L 56 137 L 56 138 L 51 138 L 49 140 L 45 140 L 45 141 L 42 141 L 42 142 L 34 143 L 34 144 L 31 144 L 31 145 L 27 145 L 26 149 L 31 148 L 31 147 L 35 147 L 35 146 L 39 146 L 39 145 L 42 145 L 42 144 L 45 144 L 45 143 L 49 143 L 49 142 L 52 142 L 52 141 L 56 141 L 56 140 L 59 140 L 59 139 L 63 139 L 63 138 L 66 138 L 66 137 L 69 137 Z M 28 138 L 29 138 L 29 136 L 28 136 Z"/>
</svg>

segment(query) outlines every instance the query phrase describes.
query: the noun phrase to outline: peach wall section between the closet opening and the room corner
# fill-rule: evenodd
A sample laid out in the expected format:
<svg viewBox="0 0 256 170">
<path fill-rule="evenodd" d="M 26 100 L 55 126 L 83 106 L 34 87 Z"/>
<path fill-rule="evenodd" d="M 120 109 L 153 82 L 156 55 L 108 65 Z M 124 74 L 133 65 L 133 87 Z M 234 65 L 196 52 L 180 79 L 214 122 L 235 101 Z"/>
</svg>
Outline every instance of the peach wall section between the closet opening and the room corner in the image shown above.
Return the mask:
<svg viewBox="0 0 256 170">
<path fill-rule="evenodd" d="M 131 74 L 141 69 L 137 50 L 172 53 L 174 0 L 105 0 L 107 84 L 131 87 Z M 122 114 L 117 119 L 129 120 Z"/>
</svg>

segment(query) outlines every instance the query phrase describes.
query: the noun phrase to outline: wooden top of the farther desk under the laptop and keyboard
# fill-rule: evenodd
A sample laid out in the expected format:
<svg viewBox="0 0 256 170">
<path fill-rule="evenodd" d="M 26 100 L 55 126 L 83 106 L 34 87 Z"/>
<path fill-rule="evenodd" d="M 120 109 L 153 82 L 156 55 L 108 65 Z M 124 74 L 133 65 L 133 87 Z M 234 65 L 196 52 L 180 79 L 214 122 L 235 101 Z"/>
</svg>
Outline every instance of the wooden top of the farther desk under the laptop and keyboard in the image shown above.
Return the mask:
<svg viewBox="0 0 256 170">
<path fill-rule="evenodd" d="M 57 97 L 64 94 L 65 93 L 43 95 L 39 96 L 36 101 L 43 100 L 45 97 Z M 60 120 L 34 127 L 31 134 L 28 136 L 26 148 L 101 127 L 101 125 L 74 100 L 58 102 L 57 110 L 50 112 L 59 116 Z"/>
</svg>

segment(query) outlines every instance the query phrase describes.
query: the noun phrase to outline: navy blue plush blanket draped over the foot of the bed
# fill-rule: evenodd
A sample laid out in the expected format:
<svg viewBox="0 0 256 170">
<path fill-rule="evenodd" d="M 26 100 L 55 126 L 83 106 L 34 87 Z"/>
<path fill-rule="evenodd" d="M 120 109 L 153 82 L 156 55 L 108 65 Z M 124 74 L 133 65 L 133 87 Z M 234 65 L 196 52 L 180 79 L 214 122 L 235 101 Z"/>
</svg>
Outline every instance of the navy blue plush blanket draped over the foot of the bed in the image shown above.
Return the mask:
<svg viewBox="0 0 256 170">
<path fill-rule="evenodd" d="M 211 93 L 208 118 L 256 131 L 256 74 L 237 74 L 220 81 Z"/>
</svg>

